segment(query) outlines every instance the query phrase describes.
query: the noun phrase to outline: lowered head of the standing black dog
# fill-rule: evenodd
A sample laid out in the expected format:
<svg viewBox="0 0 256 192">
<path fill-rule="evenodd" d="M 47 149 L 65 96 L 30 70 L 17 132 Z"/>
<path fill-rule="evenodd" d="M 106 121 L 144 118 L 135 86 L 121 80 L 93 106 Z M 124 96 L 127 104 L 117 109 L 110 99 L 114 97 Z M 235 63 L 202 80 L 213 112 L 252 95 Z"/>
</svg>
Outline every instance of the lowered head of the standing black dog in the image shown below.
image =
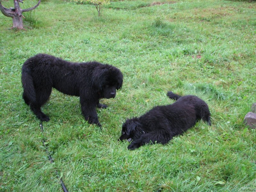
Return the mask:
<svg viewBox="0 0 256 192">
<path fill-rule="evenodd" d="M 94 70 L 94 86 L 101 98 L 115 98 L 116 90 L 123 84 L 122 72 L 111 65 L 101 65 Z"/>
</svg>

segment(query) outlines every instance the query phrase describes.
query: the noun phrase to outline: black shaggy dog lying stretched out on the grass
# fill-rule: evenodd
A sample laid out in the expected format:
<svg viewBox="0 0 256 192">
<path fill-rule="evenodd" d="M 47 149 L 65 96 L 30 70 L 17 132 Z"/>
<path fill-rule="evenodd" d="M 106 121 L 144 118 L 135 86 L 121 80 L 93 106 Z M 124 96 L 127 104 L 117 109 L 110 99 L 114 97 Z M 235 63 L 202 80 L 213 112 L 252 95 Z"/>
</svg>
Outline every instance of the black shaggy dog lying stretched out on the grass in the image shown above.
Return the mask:
<svg viewBox="0 0 256 192">
<path fill-rule="evenodd" d="M 119 140 L 133 140 L 128 149 L 133 150 L 147 143 L 166 144 L 201 119 L 211 125 L 211 113 L 203 100 L 194 95 L 181 97 L 173 92 L 167 95 L 177 101 L 157 106 L 140 117 L 127 119 L 123 124 Z"/>
</svg>

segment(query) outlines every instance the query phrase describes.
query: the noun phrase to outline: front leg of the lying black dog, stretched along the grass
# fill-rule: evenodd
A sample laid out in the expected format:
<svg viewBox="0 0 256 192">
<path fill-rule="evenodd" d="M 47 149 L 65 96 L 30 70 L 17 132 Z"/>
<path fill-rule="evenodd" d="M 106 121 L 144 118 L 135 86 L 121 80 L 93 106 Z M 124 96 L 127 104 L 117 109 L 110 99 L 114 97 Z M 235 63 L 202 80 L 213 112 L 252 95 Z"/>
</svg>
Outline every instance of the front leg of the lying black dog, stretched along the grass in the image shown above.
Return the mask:
<svg viewBox="0 0 256 192">
<path fill-rule="evenodd" d="M 161 143 L 166 144 L 171 140 L 171 136 L 167 136 L 166 133 L 162 132 L 149 132 L 140 136 L 139 139 L 133 140 L 128 146 L 128 149 L 133 150 L 146 144 Z"/>
</svg>

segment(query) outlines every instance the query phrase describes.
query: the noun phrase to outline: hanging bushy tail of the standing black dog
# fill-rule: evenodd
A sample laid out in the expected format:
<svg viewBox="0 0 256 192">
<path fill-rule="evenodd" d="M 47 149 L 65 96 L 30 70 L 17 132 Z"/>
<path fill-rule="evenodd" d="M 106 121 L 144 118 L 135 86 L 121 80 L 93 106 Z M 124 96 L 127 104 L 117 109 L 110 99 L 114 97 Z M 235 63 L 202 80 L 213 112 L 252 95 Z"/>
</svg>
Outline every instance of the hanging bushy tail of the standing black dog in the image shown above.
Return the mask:
<svg viewBox="0 0 256 192">
<path fill-rule="evenodd" d="M 24 89 L 23 99 L 26 104 L 36 103 L 36 91 L 33 83 L 33 77 L 31 75 L 31 69 L 29 65 L 31 60 L 25 61 L 21 69 L 21 82 Z"/>
</svg>

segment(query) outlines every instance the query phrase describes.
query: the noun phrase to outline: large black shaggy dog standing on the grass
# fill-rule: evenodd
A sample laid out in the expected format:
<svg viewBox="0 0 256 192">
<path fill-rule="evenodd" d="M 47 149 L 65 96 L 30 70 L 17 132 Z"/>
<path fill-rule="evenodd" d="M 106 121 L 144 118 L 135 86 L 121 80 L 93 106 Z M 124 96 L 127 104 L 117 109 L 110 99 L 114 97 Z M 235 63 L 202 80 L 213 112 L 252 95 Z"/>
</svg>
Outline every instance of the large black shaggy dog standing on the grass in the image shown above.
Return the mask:
<svg viewBox="0 0 256 192">
<path fill-rule="evenodd" d="M 52 55 L 37 54 L 22 66 L 21 81 L 23 99 L 41 121 L 50 118 L 41 111 L 41 106 L 49 99 L 52 88 L 80 97 L 84 118 L 90 124 L 100 125 L 96 106 L 100 98 L 115 98 L 116 89 L 123 84 L 122 72 L 111 65 L 99 62 L 74 63 Z"/>
</svg>

